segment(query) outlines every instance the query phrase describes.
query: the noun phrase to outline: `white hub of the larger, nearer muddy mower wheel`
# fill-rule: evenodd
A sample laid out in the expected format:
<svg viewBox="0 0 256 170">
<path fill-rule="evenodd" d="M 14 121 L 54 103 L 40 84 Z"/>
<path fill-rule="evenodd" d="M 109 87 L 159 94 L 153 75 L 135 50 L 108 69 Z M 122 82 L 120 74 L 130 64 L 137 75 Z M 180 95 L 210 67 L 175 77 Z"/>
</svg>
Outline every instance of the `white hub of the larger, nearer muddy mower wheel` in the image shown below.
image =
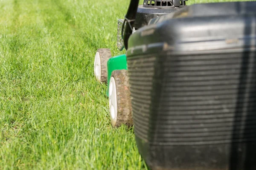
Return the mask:
<svg viewBox="0 0 256 170">
<path fill-rule="evenodd" d="M 117 117 L 117 97 L 116 97 L 116 82 L 114 77 L 110 78 L 109 81 L 109 111 L 112 125 L 116 125 L 116 117 Z"/>
</svg>

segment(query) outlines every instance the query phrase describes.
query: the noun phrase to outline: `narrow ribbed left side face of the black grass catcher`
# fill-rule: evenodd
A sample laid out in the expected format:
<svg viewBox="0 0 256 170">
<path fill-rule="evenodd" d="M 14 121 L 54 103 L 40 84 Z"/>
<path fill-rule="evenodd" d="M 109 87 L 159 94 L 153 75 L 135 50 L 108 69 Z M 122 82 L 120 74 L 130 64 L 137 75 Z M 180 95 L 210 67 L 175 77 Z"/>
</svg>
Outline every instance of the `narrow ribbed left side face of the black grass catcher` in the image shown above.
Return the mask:
<svg viewBox="0 0 256 170">
<path fill-rule="evenodd" d="M 151 91 L 155 57 L 129 59 L 129 82 L 135 133 L 142 139 L 148 139 L 150 122 Z"/>
</svg>

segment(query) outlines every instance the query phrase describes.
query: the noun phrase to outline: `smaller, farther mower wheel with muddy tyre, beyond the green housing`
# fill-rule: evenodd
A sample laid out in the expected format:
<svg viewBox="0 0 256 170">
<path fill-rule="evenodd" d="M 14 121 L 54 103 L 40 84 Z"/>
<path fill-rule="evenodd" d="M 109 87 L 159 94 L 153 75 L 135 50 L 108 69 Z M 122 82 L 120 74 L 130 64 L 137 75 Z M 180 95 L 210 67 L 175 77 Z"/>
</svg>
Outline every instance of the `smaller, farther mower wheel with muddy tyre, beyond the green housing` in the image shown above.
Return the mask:
<svg viewBox="0 0 256 170">
<path fill-rule="evenodd" d="M 94 75 L 99 82 L 108 81 L 108 59 L 111 58 L 111 51 L 108 48 L 99 48 L 94 58 Z"/>
</svg>

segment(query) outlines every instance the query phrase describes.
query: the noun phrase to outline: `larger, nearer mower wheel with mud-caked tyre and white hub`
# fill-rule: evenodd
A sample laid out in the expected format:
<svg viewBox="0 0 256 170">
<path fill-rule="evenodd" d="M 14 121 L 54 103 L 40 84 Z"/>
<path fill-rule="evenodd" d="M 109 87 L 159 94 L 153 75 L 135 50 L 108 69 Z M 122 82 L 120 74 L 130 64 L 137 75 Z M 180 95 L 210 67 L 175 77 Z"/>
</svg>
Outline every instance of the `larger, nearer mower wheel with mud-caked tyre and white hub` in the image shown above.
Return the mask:
<svg viewBox="0 0 256 170">
<path fill-rule="evenodd" d="M 131 96 L 126 70 L 115 70 L 109 82 L 109 111 L 113 127 L 133 125 Z"/>
</svg>

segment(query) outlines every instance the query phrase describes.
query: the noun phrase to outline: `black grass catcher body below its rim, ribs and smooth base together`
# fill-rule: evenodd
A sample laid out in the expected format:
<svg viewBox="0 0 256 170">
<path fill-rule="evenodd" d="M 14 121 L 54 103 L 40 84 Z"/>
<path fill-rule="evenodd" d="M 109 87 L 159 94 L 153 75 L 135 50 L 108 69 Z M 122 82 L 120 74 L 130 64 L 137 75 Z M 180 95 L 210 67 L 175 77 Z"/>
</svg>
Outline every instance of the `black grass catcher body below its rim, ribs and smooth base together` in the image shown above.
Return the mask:
<svg viewBox="0 0 256 170">
<path fill-rule="evenodd" d="M 128 57 L 135 135 L 147 163 L 255 169 L 255 54 L 152 56 Z"/>
</svg>

